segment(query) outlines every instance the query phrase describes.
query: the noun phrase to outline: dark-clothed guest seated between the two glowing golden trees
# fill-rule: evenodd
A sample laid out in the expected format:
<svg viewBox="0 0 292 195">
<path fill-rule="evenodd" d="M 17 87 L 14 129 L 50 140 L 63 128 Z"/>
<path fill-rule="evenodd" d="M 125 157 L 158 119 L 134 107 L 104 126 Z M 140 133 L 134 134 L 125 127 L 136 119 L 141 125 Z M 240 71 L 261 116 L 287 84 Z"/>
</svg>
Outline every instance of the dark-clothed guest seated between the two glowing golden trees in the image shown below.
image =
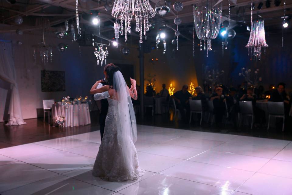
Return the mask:
<svg viewBox="0 0 292 195">
<path fill-rule="evenodd" d="M 188 86 L 184 85 L 182 90 L 177 91 L 173 94 L 173 98 L 176 101 L 176 107 L 182 115 L 182 120 L 184 122 L 189 121 L 190 108 L 189 108 L 189 99 L 192 98 L 192 95 L 188 92 Z M 186 113 L 185 113 L 186 110 Z"/>
</svg>

